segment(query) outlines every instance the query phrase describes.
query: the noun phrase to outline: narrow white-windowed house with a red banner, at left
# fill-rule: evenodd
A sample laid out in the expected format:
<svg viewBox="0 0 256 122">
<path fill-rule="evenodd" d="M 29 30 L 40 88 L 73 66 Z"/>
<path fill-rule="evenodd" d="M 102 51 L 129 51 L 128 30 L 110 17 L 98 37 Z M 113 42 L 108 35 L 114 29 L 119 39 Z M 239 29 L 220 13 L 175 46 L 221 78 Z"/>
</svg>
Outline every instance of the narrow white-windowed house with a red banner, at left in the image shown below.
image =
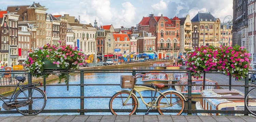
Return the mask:
<svg viewBox="0 0 256 122">
<path fill-rule="evenodd" d="M 28 52 L 31 47 L 31 32 L 30 25 L 18 24 L 18 56 L 19 58 L 27 58 Z"/>
</svg>

